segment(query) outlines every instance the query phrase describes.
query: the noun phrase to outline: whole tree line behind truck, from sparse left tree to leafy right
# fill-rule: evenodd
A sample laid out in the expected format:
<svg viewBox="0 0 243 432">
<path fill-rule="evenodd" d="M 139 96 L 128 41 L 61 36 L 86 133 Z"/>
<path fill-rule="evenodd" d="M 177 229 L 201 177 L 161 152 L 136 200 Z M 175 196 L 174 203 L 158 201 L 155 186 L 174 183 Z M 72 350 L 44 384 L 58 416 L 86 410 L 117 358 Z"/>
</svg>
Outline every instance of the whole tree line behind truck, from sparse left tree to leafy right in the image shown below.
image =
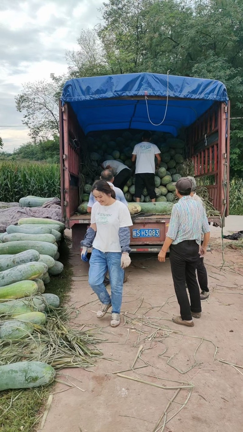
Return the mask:
<svg viewBox="0 0 243 432">
<path fill-rule="evenodd" d="M 231 117 L 243 117 L 243 0 L 109 0 L 93 30 L 66 52 L 68 77 L 25 85 L 16 99 L 31 137 L 58 132 L 64 80 L 152 72 L 218 79 L 227 86 Z M 230 169 L 243 171 L 243 121 L 231 121 Z"/>
</svg>

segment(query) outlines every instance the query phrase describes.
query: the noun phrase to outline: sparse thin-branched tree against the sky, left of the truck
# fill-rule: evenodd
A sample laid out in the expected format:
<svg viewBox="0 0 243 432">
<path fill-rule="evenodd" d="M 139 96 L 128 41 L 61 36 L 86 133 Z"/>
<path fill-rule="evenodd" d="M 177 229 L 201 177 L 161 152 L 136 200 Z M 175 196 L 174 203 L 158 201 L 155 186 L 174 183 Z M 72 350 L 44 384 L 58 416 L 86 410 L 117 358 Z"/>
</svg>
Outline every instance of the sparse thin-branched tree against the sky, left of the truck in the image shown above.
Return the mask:
<svg viewBox="0 0 243 432">
<path fill-rule="evenodd" d="M 43 80 L 25 83 L 21 94 L 15 98 L 17 111 L 24 111 L 22 123 L 29 128 L 34 142 L 59 133 L 58 91 L 55 80 Z"/>
</svg>

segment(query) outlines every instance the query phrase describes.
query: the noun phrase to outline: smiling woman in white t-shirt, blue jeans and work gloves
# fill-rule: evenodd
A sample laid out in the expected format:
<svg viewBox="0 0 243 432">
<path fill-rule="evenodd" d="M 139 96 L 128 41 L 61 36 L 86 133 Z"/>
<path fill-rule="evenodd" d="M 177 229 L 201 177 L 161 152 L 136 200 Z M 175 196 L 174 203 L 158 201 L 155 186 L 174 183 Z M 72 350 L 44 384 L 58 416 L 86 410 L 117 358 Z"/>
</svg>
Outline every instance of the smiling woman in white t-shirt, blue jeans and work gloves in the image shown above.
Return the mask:
<svg viewBox="0 0 243 432">
<path fill-rule="evenodd" d="M 125 204 L 116 200 L 114 190 L 103 180 L 92 187 L 96 203 L 92 207 L 91 225 L 81 241 L 83 261 L 87 248 L 93 247 L 89 260 L 88 283 L 101 301 L 97 318 L 102 318 L 110 307 L 111 327 L 120 324 L 124 269 L 129 266 L 130 230 L 133 225 Z M 111 298 L 104 286 L 104 276 L 109 271 Z"/>
</svg>

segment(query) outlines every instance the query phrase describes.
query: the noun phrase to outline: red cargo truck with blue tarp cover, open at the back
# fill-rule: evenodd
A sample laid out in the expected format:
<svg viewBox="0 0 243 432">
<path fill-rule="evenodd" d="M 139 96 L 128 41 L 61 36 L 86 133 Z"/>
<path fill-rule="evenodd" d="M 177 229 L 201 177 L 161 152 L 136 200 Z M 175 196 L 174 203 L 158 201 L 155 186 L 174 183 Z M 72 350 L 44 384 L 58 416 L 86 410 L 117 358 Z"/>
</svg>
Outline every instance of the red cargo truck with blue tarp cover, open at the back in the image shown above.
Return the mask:
<svg viewBox="0 0 243 432">
<path fill-rule="evenodd" d="M 189 160 L 186 172 L 189 174 L 193 164 L 194 176 L 203 179 L 209 200 L 224 223 L 229 210 L 230 156 L 230 102 L 224 84 L 152 73 L 78 78 L 65 84 L 59 106 L 61 205 L 66 226 L 72 229 L 73 250 L 79 250 L 90 223 L 89 214 L 75 213 L 82 200 L 82 181 L 92 148 L 87 137 L 100 139 L 106 133 L 133 131 L 123 140 L 124 148 L 119 147 L 124 151 L 126 141 L 130 148 L 133 141 L 129 140 L 138 131 L 139 134 L 143 130 L 159 133 L 162 147 L 167 143 L 168 134 L 183 138 L 186 143 L 183 156 Z M 151 123 L 148 109 L 157 126 Z M 166 115 L 159 123 L 161 112 Z M 117 140 L 117 135 L 114 137 Z M 107 135 L 103 138 L 106 151 Z M 130 156 L 125 156 L 130 161 Z M 211 216 L 208 221 L 221 226 L 221 217 Z M 133 216 L 132 251 L 158 248 L 164 242 L 169 222 L 168 215 Z"/>
</svg>

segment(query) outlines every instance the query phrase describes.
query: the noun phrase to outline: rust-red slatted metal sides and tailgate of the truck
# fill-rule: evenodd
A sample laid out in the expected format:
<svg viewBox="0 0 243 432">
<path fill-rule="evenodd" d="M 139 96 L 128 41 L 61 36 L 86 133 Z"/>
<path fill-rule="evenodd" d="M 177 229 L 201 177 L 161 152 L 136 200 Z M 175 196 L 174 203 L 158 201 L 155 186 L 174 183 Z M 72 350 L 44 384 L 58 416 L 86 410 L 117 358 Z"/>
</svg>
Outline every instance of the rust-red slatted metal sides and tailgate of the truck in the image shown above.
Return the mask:
<svg viewBox="0 0 243 432">
<path fill-rule="evenodd" d="M 133 98 L 133 97 L 131 97 Z M 153 97 L 155 98 L 155 97 Z M 157 99 L 160 97 L 158 96 Z M 139 97 L 137 97 L 139 99 Z M 161 97 L 161 99 L 164 99 Z M 149 100 L 149 96 L 148 96 Z M 230 103 L 215 102 L 194 124 L 186 130 L 189 157 L 194 162 L 195 177 L 214 175 L 215 184 L 206 186 L 209 197 L 221 217 L 211 216 L 208 221 L 221 226 L 229 209 L 229 152 L 230 152 Z M 66 227 L 72 230 L 73 250 L 80 250 L 90 214 L 75 214 L 79 206 L 80 151 L 84 133 L 69 103 L 60 102 L 60 169 L 61 206 Z M 170 216 L 133 216 L 131 228 L 132 252 L 158 252 L 165 240 Z M 132 229 L 160 230 L 160 237 L 136 238 Z"/>
</svg>

